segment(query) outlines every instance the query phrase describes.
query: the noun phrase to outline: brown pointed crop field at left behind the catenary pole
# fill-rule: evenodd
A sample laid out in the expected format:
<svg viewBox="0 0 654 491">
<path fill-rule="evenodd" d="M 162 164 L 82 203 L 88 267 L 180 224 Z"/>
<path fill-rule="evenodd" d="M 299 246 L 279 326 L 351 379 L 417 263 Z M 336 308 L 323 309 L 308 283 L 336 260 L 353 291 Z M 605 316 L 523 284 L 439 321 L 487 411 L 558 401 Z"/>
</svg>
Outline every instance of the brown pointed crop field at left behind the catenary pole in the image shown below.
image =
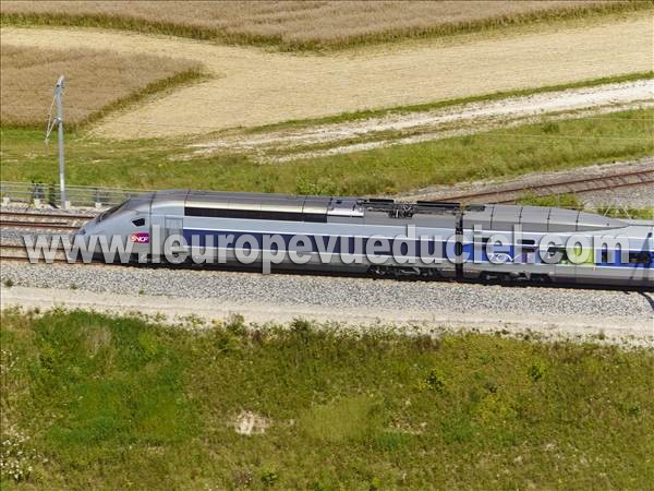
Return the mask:
<svg viewBox="0 0 654 491">
<path fill-rule="evenodd" d="M 66 124 L 80 124 L 102 110 L 134 100 L 199 74 L 199 63 L 180 58 L 92 49 L 53 50 L 2 44 L 2 125 L 45 124 L 52 87 L 65 74 Z"/>
</svg>

